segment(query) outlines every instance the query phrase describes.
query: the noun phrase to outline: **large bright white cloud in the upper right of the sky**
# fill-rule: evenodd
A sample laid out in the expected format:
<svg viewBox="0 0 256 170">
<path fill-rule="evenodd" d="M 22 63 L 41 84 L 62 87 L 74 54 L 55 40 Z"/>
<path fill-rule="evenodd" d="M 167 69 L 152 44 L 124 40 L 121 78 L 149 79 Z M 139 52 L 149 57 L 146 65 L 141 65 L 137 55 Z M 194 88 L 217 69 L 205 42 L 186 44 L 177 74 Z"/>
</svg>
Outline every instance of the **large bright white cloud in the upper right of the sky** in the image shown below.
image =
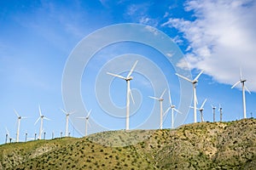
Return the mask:
<svg viewBox="0 0 256 170">
<path fill-rule="evenodd" d="M 192 0 L 185 10 L 193 11 L 195 20 L 170 18 L 162 26 L 176 28 L 189 41 L 189 66 L 228 84 L 237 82 L 241 67 L 248 88 L 255 92 L 256 2 Z"/>
</svg>

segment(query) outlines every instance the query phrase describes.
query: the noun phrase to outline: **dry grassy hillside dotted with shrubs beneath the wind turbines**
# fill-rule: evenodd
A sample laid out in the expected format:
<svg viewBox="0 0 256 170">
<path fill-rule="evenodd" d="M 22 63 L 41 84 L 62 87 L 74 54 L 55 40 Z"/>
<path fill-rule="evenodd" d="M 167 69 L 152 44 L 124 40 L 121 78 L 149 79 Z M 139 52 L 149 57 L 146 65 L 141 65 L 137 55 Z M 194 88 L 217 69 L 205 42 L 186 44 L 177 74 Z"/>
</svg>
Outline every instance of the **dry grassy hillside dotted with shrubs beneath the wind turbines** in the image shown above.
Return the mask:
<svg viewBox="0 0 256 170">
<path fill-rule="evenodd" d="M 61 138 L 0 145 L 0 169 L 255 167 L 255 119 L 193 123 L 174 130 L 113 131 L 81 139 Z"/>
</svg>

